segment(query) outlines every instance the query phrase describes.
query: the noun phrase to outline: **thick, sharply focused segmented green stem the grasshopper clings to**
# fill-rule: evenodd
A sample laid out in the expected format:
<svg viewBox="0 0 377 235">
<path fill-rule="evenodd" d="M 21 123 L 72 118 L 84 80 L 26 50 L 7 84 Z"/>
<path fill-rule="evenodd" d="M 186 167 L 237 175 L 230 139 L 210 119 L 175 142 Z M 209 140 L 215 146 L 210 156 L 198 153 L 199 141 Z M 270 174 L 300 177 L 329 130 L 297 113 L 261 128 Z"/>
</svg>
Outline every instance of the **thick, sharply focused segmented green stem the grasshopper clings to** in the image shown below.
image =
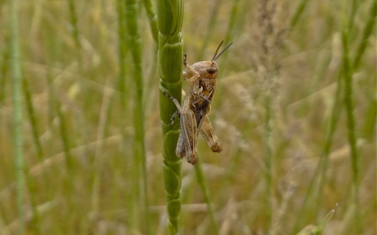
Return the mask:
<svg viewBox="0 0 377 235">
<path fill-rule="evenodd" d="M 171 92 L 181 102 L 183 40 L 183 0 L 158 0 L 158 65 L 160 88 Z M 178 232 L 178 217 L 181 210 L 181 159 L 175 154 L 179 136 L 179 123 L 169 126 L 170 117 L 177 110 L 160 89 L 159 108 L 162 126 L 162 169 L 165 181 L 168 228 L 171 234 Z"/>
</svg>

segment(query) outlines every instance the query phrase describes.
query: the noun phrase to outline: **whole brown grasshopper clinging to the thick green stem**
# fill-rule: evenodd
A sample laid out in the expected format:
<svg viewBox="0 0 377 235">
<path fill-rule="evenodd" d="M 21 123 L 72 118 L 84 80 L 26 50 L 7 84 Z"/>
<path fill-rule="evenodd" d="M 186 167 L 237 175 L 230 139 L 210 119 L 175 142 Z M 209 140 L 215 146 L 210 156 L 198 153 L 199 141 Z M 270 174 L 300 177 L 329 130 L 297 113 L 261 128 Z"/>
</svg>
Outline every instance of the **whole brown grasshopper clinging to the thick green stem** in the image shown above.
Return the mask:
<svg viewBox="0 0 377 235">
<path fill-rule="evenodd" d="M 222 145 L 213 130 L 208 115 L 211 111 L 211 102 L 217 84 L 218 67 L 215 60 L 232 44 L 230 43 L 217 54 L 223 42 L 216 49 L 211 61 L 201 61 L 188 65 L 186 62 L 187 55 L 184 53 L 183 64 L 187 71 L 183 72 L 183 79 L 189 83 L 189 89 L 185 92 L 182 107 L 175 97 L 168 94 L 166 90 L 163 91 L 164 95 L 173 100 L 178 109 L 173 114 L 170 125 L 174 123 L 175 117 L 180 115 L 181 131 L 175 153 L 180 158 L 187 156 L 187 162 L 193 165 L 199 161 L 196 150 L 198 130 L 207 141 L 212 152 L 219 153 L 222 151 Z"/>
</svg>

